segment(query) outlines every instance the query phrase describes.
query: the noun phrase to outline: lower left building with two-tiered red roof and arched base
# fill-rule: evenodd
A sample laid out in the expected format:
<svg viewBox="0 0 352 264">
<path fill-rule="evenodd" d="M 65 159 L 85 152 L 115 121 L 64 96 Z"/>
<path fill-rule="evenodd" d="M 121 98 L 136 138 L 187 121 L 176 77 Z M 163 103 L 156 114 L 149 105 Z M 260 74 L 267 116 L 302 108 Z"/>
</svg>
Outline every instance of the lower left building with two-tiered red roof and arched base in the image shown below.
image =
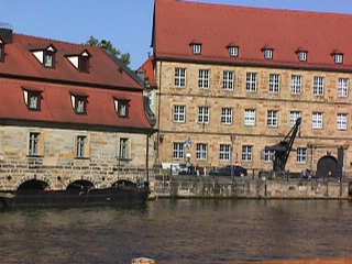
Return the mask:
<svg viewBox="0 0 352 264">
<path fill-rule="evenodd" d="M 0 190 L 145 180 L 143 85 L 106 51 L 0 29 Z"/>
</svg>

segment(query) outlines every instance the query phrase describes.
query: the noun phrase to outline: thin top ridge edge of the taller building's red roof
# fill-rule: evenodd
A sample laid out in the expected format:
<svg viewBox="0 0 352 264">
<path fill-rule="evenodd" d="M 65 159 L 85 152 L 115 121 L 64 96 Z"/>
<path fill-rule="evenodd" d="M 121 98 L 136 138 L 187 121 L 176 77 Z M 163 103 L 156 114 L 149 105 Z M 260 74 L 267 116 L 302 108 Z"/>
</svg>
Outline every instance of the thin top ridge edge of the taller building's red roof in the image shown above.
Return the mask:
<svg viewBox="0 0 352 264">
<path fill-rule="evenodd" d="M 319 15 L 339 15 L 339 16 L 352 16 L 352 13 L 342 12 L 330 12 L 330 11 L 314 11 L 314 10 L 299 10 L 299 9 L 286 9 L 286 8 L 263 8 L 263 7 L 250 7 L 241 4 L 231 3 L 215 3 L 215 2 L 204 2 L 202 0 L 175 0 L 175 2 L 194 4 L 194 6 L 210 6 L 210 7 L 224 7 L 233 9 L 243 10 L 258 10 L 258 11 L 270 11 L 270 12 L 289 12 L 289 13 L 301 13 L 301 14 L 319 14 Z"/>
</svg>

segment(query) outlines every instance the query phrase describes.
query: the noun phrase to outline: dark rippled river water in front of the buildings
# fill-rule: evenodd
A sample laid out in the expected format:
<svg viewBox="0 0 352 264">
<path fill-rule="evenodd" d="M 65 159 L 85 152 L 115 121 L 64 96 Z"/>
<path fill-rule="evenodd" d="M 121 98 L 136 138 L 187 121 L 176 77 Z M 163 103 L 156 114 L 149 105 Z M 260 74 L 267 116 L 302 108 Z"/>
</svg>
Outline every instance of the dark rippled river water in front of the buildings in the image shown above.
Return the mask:
<svg viewBox="0 0 352 264">
<path fill-rule="evenodd" d="M 0 213 L 0 263 L 163 264 L 352 257 L 352 204 L 157 200 Z"/>
</svg>

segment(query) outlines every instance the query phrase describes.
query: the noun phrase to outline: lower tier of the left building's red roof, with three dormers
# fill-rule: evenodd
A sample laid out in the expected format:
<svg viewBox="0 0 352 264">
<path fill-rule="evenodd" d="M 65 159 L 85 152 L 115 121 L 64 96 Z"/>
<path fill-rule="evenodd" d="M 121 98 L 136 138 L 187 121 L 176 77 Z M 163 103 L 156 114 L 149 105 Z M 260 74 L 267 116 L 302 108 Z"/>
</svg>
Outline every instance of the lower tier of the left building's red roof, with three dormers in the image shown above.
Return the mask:
<svg viewBox="0 0 352 264">
<path fill-rule="evenodd" d="M 18 79 L 0 79 L 0 120 L 36 121 L 63 124 L 88 124 L 123 129 L 151 129 L 144 111 L 142 92 L 84 86 L 55 85 Z M 24 103 L 23 89 L 41 90 L 41 111 L 31 111 Z M 88 96 L 87 114 L 76 114 L 72 92 Z M 113 99 L 128 99 L 129 118 L 120 118 Z"/>
</svg>

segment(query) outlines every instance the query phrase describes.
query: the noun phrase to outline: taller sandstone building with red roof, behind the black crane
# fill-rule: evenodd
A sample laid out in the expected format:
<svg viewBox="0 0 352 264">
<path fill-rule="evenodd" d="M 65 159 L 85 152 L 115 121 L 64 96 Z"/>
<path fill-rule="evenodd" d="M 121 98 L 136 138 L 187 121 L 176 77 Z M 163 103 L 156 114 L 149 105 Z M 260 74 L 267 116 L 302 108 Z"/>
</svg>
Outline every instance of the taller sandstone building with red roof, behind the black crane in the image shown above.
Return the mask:
<svg viewBox="0 0 352 264">
<path fill-rule="evenodd" d="M 156 0 L 143 66 L 156 163 L 271 169 L 265 146 L 301 117 L 286 168 L 351 173 L 351 26 L 346 14 Z"/>
</svg>

